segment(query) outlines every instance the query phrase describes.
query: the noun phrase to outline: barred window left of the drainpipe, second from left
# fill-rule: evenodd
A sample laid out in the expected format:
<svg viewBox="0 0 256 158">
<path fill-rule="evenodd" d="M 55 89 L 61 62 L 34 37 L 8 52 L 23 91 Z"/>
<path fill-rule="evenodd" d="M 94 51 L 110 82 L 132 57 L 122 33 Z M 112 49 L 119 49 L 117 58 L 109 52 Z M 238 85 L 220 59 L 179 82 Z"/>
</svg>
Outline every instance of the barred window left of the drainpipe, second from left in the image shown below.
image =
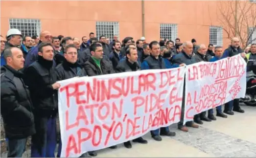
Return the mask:
<svg viewBox="0 0 256 158">
<path fill-rule="evenodd" d="M 101 35 L 106 36 L 110 40 L 116 35 L 119 39 L 119 23 L 118 22 L 96 22 L 96 37 L 99 39 Z"/>
</svg>

